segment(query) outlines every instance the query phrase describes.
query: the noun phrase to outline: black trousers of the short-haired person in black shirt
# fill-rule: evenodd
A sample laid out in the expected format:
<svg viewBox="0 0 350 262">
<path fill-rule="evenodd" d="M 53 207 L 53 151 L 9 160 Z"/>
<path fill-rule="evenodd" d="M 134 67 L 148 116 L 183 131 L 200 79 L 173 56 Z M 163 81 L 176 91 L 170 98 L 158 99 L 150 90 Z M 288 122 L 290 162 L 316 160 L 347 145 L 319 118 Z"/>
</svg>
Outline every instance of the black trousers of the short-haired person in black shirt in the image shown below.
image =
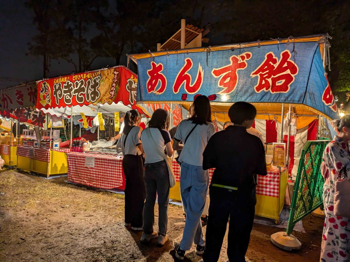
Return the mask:
<svg viewBox="0 0 350 262">
<path fill-rule="evenodd" d="M 210 187 L 209 216 L 203 255 L 205 262 L 218 261 L 229 215 L 227 255 L 231 262 L 245 261 L 255 213 L 255 185 L 244 191 L 251 194 Z"/>
</svg>

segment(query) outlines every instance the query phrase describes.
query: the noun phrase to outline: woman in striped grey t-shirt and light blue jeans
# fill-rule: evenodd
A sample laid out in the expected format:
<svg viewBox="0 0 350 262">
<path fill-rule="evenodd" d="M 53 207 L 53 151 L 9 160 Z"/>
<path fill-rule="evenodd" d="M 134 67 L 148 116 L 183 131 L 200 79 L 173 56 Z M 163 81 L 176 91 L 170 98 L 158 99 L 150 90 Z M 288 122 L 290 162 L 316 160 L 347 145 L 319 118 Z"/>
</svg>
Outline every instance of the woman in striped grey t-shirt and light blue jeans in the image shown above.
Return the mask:
<svg viewBox="0 0 350 262">
<path fill-rule="evenodd" d="M 185 252 L 193 242 L 197 245 L 196 254 L 204 253 L 201 215 L 208 192 L 209 173 L 203 170 L 203 151 L 210 137 L 215 133 L 211 122 L 211 110 L 208 97 L 199 95 L 194 103 L 191 118 L 181 121 L 174 137 L 174 150 L 182 149 L 180 189 L 181 199 L 186 211 L 186 223 L 181 242 L 174 241 L 173 247 L 178 259 L 183 260 Z M 183 142 L 183 145 L 180 142 Z"/>
</svg>

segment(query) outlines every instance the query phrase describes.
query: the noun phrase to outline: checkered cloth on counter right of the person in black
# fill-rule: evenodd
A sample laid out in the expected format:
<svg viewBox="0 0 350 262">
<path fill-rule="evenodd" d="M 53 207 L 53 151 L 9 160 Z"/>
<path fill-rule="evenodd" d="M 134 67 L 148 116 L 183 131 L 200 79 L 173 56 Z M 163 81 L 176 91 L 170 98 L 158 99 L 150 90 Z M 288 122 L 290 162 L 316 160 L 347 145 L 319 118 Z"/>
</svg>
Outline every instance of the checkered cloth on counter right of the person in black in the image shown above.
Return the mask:
<svg viewBox="0 0 350 262">
<path fill-rule="evenodd" d="M 281 170 L 281 173 L 285 169 Z M 280 172 L 278 169 L 267 172 L 266 176 L 258 175 L 257 195 L 279 197 L 280 195 Z"/>
</svg>

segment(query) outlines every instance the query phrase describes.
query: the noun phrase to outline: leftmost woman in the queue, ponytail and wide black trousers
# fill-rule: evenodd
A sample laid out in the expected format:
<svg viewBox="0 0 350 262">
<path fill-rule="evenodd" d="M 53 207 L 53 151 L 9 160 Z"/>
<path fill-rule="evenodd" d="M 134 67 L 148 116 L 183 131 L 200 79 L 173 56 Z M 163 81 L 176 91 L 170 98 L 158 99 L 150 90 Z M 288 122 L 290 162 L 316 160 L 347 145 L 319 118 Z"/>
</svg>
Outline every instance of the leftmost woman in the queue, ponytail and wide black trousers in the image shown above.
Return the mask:
<svg viewBox="0 0 350 262">
<path fill-rule="evenodd" d="M 144 150 L 141 144 L 141 115 L 137 110 L 130 110 L 124 116 L 124 129 L 121 136 L 123 169 L 125 174 L 125 227 L 142 230 L 142 210 L 146 197 L 143 179 Z"/>
</svg>

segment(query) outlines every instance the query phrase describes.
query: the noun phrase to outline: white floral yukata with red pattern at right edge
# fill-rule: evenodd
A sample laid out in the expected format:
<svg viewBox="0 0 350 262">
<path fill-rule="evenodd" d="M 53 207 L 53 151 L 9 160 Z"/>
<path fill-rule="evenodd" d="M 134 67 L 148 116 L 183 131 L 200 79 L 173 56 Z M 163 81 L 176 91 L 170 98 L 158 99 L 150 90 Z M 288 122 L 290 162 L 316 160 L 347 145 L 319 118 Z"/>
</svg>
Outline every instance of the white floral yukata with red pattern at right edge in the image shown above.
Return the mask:
<svg viewBox="0 0 350 262">
<path fill-rule="evenodd" d="M 324 222 L 320 261 L 350 261 L 350 218 L 334 215 L 334 186 L 339 173 L 350 178 L 349 145 L 335 136 L 323 152 L 323 203 L 326 218 Z"/>
</svg>

